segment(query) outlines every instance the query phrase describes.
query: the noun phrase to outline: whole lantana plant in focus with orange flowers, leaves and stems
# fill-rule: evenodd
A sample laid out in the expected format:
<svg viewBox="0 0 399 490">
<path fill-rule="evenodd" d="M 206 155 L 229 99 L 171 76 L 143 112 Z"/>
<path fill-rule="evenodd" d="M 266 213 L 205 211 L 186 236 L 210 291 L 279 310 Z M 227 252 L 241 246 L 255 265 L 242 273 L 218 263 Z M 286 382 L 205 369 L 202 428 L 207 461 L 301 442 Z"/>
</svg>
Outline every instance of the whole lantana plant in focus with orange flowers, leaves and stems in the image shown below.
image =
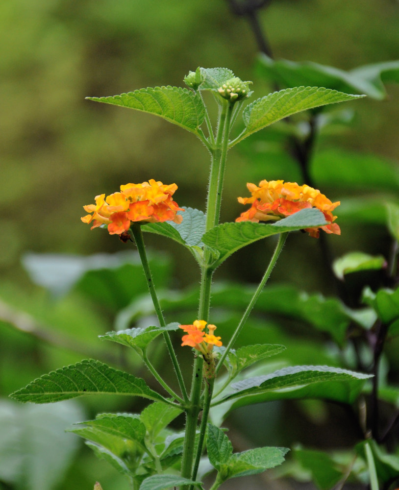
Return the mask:
<svg viewBox="0 0 399 490">
<path fill-rule="evenodd" d="M 251 82 L 242 81 L 228 69 L 198 68 L 184 81 L 188 88 L 145 88 L 114 97 L 89 98 L 151 113 L 174 123 L 197 136 L 210 155 L 205 213 L 180 207 L 172 197 L 177 191 L 175 183 L 163 184 L 150 178 L 148 182 L 121 185 L 119 191 L 106 197 L 99 194 L 95 204 L 84 206 L 87 214 L 81 218 L 92 229 L 104 228 L 110 235 L 118 235 L 125 243 L 121 246 L 132 242 L 138 249 L 158 323 L 112 331 L 101 337 L 134 349 L 159 390 L 150 388 L 134 373 L 100 361 L 83 360 L 50 372 L 12 395 L 21 402 L 34 403 L 90 394 L 121 394 L 150 400 L 141 414 L 100 413 L 95 420 L 81 422 L 72 429 L 86 439 L 97 456 L 126 475 L 133 490 L 203 490 L 203 476 L 212 470 L 216 470 L 216 476 L 210 489 L 216 490 L 229 478 L 278 466 L 283 463 L 288 448 L 259 447 L 234 452 L 225 430 L 220 427 L 224 415 L 235 407 L 271 399 L 312 397 L 351 403 L 370 377 L 327 366 L 294 366 L 248 377 L 246 369 L 281 353 L 284 347 L 266 343 L 234 348 L 289 234 L 305 230 L 313 238 L 324 232 L 339 235 L 333 213 L 340 203 L 332 202 L 305 183 L 260 180 L 258 186 L 247 184 L 250 197 L 238 197 L 241 204 L 250 205 L 249 209 L 235 222 L 219 222 L 230 148 L 297 112 L 362 96 L 319 87 L 296 87 L 247 103 L 252 95 Z M 211 121 L 204 103 L 205 91 L 213 95 L 218 106 L 216 123 Z M 265 178 L 268 178 L 267 162 L 264 174 L 259 175 L 259 179 Z M 203 182 L 204 187 L 206 184 Z M 192 324 L 181 324 L 178 319 L 172 323 L 165 321 L 143 232 L 174 240 L 190 250 L 197 261 L 200 296 L 198 315 Z M 269 264 L 233 334 L 228 337 L 213 324 L 214 271 L 235 251 L 272 236 L 275 237 L 270 240 L 277 240 Z M 303 240 L 313 238 L 303 236 Z M 176 342 L 181 330 L 184 334 Z M 164 379 L 149 359 L 148 345 L 160 335 L 175 380 Z M 189 376 L 179 362 L 182 349 L 192 350 L 193 368 Z M 181 430 L 168 427 L 182 413 L 184 427 Z M 95 489 L 100 489 L 99 483 Z"/>
</svg>

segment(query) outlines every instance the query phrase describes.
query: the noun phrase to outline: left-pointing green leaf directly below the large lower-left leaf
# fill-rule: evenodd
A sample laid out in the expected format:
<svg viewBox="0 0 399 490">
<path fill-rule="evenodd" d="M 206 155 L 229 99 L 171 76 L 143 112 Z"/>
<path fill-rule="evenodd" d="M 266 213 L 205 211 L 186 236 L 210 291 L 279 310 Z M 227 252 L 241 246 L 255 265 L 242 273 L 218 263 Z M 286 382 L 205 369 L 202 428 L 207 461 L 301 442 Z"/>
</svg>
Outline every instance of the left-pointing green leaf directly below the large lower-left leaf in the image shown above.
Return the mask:
<svg viewBox="0 0 399 490">
<path fill-rule="evenodd" d="M 129 439 L 131 441 L 142 441 L 146 435 L 145 425 L 137 417 L 132 417 L 129 414 L 103 414 L 95 420 L 79 422 L 74 425 L 77 426 L 76 429 L 70 429 L 70 432 L 80 433 L 79 435 L 81 435 L 81 425 L 87 426 L 94 434 L 111 435 L 116 438 Z M 99 441 L 97 440 L 95 442 Z"/>
</svg>

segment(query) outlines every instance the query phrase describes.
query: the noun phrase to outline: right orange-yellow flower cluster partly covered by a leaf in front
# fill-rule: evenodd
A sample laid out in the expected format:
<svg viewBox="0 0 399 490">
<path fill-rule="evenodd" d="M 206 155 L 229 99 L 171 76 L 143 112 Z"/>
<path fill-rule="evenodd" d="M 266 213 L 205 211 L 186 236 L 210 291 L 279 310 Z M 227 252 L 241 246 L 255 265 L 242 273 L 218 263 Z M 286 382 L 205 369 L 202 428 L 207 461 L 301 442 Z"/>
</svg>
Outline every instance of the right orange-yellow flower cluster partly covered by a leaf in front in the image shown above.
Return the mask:
<svg viewBox="0 0 399 490">
<path fill-rule="evenodd" d="M 236 221 L 276 221 L 297 213 L 305 208 L 317 208 L 324 214 L 328 224 L 316 228 L 306 228 L 311 237 L 319 238 L 320 229 L 326 233 L 341 234 L 340 227 L 333 221 L 337 218 L 332 211 L 340 202 L 331 202 L 319 190 L 308 185 L 283 180 L 262 180 L 259 186 L 247 184 L 251 197 L 239 197 L 241 204 L 251 204 L 248 211 L 241 213 Z"/>
</svg>

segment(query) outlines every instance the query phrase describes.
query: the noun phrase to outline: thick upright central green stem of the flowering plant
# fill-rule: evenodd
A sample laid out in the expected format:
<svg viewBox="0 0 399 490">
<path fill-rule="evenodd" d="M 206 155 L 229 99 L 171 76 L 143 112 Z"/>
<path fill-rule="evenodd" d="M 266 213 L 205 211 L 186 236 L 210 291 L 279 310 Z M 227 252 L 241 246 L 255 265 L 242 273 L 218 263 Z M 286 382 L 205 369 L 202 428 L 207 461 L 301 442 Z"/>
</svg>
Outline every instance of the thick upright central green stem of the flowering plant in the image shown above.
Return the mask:
<svg viewBox="0 0 399 490">
<path fill-rule="evenodd" d="M 224 168 L 228 149 L 228 135 L 230 132 L 230 122 L 232 115 L 233 104 L 227 100 L 222 100 L 222 110 L 219 119 L 218 131 L 214 148 L 211 151 L 211 168 L 208 185 L 208 196 L 206 203 L 206 221 L 205 231 L 212 229 L 219 223 L 220 205 L 222 200 L 222 189 L 224 179 Z M 200 288 L 200 306 L 199 319 L 209 320 L 211 285 L 213 270 L 210 267 L 212 254 L 208 247 L 204 247 L 204 260 L 201 268 L 201 288 Z M 202 453 L 203 437 L 200 437 L 199 444 L 196 450 L 195 438 L 198 426 L 198 416 L 201 411 L 201 391 L 202 391 L 202 375 L 203 359 L 197 356 L 194 361 L 193 379 L 191 385 L 190 402 L 186 409 L 186 430 L 184 438 L 184 448 L 181 463 L 181 476 L 195 480 L 198 471 L 198 464 Z M 206 406 L 204 406 L 203 414 L 207 418 L 207 413 L 210 406 L 210 398 L 205 397 Z M 204 422 L 205 424 L 205 422 Z M 203 424 L 201 424 L 203 425 Z M 205 430 L 205 429 L 203 429 Z M 196 464 L 193 468 L 194 459 Z M 182 487 L 187 490 L 187 486 Z"/>
</svg>

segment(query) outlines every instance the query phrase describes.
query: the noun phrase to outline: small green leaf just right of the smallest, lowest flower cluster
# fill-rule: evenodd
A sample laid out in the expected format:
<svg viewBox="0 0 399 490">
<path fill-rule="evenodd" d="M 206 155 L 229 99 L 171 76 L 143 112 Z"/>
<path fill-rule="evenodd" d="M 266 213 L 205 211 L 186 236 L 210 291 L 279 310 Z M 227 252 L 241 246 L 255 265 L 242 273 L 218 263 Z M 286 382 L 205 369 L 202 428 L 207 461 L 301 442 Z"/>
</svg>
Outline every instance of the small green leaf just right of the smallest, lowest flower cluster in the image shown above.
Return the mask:
<svg viewBox="0 0 399 490">
<path fill-rule="evenodd" d="M 220 349 L 222 348 L 223 347 L 220 347 Z M 214 347 L 214 350 L 217 352 L 219 349 Z M 273 345 L 268 343 L 246 345 L 237 350 L 231 349 L 225 359 L 225 364 L 233 373 L 238 373 L 252 364 L 263 361 L 276 354 L 280 354 L 280 352 L 283 352 L 284 350 L 284 345 Z"/>
</svg>

